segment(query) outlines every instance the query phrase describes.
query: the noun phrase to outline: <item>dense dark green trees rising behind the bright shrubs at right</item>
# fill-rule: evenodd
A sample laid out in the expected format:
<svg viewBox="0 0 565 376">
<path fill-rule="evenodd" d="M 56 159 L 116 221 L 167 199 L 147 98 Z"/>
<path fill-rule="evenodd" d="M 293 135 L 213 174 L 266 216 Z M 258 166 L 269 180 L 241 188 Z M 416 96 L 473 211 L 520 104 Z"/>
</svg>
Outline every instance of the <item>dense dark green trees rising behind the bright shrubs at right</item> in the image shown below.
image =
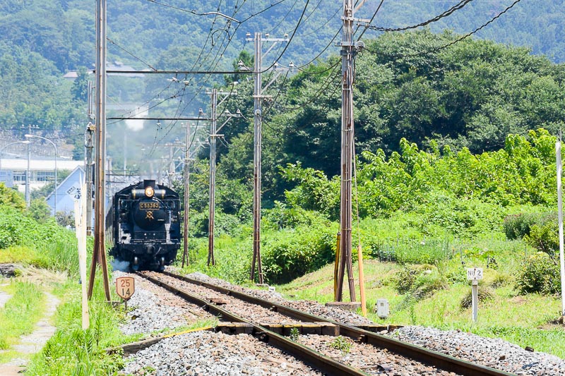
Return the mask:
<svg viewBox="0 0 565 376">
<path fill-rule="evenodd" d="M 559 133 L 565 119 L 563 64 L 532 56 L 527 49 L 472 39 L 412 55 L 457 37 L 423 30 L 391 33 L 367 43 L 356 67 L 357 154 L 394 159 L 395 152 L 405 155 L 416 144 L 432 154 L 451 150 L 471 159 L 483 152 L 509 152 L 508 142 L 518 142 L 507 140 L 509 134 L 525 137 L 528 130 L 539 127 Z M 263 111 L 263 181 L 268 200 L 280 200 L 292 186 L 280 179 L 278 166 L 299 162 L 330 178 L 339 174 L 339 70 L 339 61 L 328 59 L 292 77 L 278 78 L 268 90 L 276 98 L 266 101 Z M 250 83 L 242 83 L 238 90 L 230 110 L 242 109 L 249 121 L 245 126 L 239 119 L 226 130 L 230 147 L 220 148 L 226 153 L 220 160 L 228 177 L 241 178 L 252 176 L 253 107 Z M 530 199 L 547 202 L 536 197 L 521 202 Z"/>
</svg>

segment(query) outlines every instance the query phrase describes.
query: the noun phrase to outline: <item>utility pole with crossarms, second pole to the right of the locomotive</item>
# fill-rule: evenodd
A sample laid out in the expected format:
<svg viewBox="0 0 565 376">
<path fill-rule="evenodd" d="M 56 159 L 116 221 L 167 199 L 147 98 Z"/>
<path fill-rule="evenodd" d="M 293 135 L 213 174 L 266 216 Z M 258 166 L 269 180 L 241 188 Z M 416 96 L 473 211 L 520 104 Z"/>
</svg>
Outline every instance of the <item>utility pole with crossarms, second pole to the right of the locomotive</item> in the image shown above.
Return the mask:
<svg viewBox="0 0 565 376">
<path fill-rule="evenodd" d="M 222 116 L 227 116 L 227 120 L 222 123 L 220 128 L 216 129 L 218 121 L 218 105 L 222 104 L 230 95 L 237 95 L 236 91 L 231 92 L 218 92 L 217 89 L 213 89 L 207 92 L 212 97 L 212 116 L 210 116 L 210 202 L 208 204 L 209 215 L 208 215 L 208 266 L 210 263 L 215 265 L 214 260 L 214 217 L 215 217 L 215 195 L 216 195 L 216 138 L 222 137 L 223 135 L 218 134 L 218 131 L 227 124 L 233 117 L 239 117 L 239 114 L 230 114 L 229 111 L 225 111 Z M 218 94 L 224 97 L 218 103 Z"/>
</svg>

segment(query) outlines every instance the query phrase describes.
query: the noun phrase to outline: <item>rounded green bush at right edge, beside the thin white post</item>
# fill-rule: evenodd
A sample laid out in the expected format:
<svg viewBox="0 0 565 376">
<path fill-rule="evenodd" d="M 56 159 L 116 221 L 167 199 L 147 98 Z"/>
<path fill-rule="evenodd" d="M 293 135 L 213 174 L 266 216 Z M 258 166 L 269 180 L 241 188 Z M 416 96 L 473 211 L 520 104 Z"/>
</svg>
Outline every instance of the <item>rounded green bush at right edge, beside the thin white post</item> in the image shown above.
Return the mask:
<svg viewBox="0 0 565 376">
<path fill-rule="evenodd" d="M 518 271 L 516 289 L 520 293 L 559 293 L 559 265 L 547 253 L 538 252 L 531 255 L 524 260 Z"/>
</svg>

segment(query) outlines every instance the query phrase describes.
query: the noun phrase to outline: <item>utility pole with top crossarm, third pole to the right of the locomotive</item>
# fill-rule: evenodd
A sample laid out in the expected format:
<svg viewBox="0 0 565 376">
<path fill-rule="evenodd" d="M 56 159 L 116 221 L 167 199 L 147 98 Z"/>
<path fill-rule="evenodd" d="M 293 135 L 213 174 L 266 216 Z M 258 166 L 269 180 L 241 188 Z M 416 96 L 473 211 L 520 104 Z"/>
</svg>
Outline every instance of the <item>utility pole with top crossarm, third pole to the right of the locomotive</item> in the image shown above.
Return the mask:
<svg viewBox="0 0 565 376">
<path fill-rule="evenodd" d="M 261 37 L 260 32 L 256 32 L 254 38 L 251 39 L 251 34 L 247 34 L 246 41 L 254 41 L 255 49 L 255 63 L 254 63 L 254 152 L 253 152 L 253 260 L 251 262 L 251 273 L 249 279 L 255 279 L 255 267 L 257 265 L 257 272 L 259 283 L 263 284 L 263 268 L 261 266 L 261 138 L 262 130 L 261 123 L 263 121 L 263 95 L 262 77 L 263 70 L 262 62 L 263 57 L 268 54 L 275 44 L 278 42 L 288 42 L 288 35 L 284 38 L 270 38 L 268 34 L 265 38 Z M 273 42 L 269 49 L 262 53 L 263 42 Z M 243 65 L 242 62 L 239 64 Z"/>
</svg>

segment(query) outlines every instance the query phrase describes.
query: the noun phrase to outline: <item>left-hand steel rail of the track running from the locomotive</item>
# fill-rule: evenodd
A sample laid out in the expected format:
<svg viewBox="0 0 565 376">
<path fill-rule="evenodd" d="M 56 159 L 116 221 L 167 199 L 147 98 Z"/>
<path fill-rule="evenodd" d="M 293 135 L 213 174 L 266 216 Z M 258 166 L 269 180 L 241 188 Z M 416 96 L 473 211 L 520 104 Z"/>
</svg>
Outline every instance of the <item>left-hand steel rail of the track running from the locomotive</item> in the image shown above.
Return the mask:
<svg viewBox="0 0 565 376">
<path fill-rule="evenodd" d="M 267 344 L 270 344 L 271 346 L 275 346 L 280 350 L 290 353 L 292 356 L 295 356 L 295 358 L 304 361 L 304 363 L 311 365 L 313 368 L 325 373 L 326 375 L 352 375 L 352 376 L 368 375 L 365 372 L 356 370 L 355 368 L 352 368 L 348 365 L 338 362 L 338 360 L 324 356 L 321 353 L 318 353 L 317 351 L 314 351 L 307 346 L 298 344 L 297 342 L 292 341 L 291 339 L 288 339 L 285 336 L 281 336 L 280 334 L 271 332 L 270 330 L 266 329 L 265 327 L 262 327 L 261 325 L 256 325 L 253 322 L 244 320 L 242 317 L 239 317 L 234 313 L 230 313 L 229 311 L 218 307 L 218 305 L 215 305 L 214 303 L 210 303 L 202 298 L 199 298 L 198 296 L 192 295 L 191 293 L 187 293 L 186 291 L 177 289 L 176 287 L 167 284 L 165 281 L 160 281 L 155 277 L 150 277 L 141 272 L 136 272 L 136 274 L 139 277 L 148 279 L 149 281 L 153 282 L 153 284 L 156 284 L 157 286 L 161 286 L 164 289 L 167 289 L 168 291 L 171 291 L 172 293 L 184 298 L 186 301 L 201 306 L 205 310 L 208 310 L 209 313 L 213 313 L 214 315 L 220 315 L 221 317 L 224 317 L 225 319 L 231 320 L 233 322 L 244 322 L 247 325 L 251 325 L 251 327 L 253 327 L 252 334 L 254 336 L 257 336 L 259 340 L 265 341 Z M 169 276 L 169 277 L 173 277 L 173 276 Z"/>
</svg>

